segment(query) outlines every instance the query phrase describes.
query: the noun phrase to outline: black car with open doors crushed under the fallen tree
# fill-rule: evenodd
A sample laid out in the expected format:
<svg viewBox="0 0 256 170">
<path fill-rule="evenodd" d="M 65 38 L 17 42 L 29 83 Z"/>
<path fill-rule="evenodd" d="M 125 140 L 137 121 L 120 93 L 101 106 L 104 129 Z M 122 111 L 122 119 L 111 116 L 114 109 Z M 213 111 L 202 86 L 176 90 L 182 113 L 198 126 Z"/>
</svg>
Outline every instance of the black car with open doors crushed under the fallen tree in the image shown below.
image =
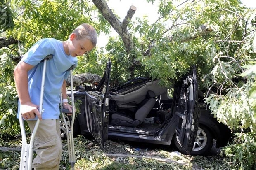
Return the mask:
<svg viewBox="0 0 256 170">
<path fill-rule="evenodd" d="M 196 68 L 181 77 L 172 89 L 159 80 L 138 77 L 109 89 L 111 62 L 97 88 L 74 91 L 80 100 L 73 126 L 74 135 L 92 135 L 104 147 L 107 139 L 147 142 L 169 146 L 171 142 L 183 154 L 207 154 L 225 146 L 230 129 L 218 123 L 203 100 L 199 100 Z M 71 96 L 71 91 L 67 91 Z M 171 97 L 170 97 L 171 96 Z M 201 103 L 200 103 L 201 102 Z M 66 116 L 67 123 L 70 117 Z M 62 137 L 66 129 L 61 121 Z"/>
</svg>

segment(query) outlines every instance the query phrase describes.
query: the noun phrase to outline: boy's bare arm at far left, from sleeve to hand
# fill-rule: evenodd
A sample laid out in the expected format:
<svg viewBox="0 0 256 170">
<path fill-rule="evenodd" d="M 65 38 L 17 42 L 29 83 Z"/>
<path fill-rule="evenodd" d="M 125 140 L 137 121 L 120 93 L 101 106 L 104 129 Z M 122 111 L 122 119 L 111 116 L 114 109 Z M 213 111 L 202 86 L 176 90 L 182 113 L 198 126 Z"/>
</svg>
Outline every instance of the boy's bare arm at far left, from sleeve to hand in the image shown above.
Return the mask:
<svg viewBox="0 0 256 170">
<path fill-rule="evenodd" d="M 38 106 L 31 102 L 28 93 L 28 70 L 31 70 L 34 66 L 20 61 L 14 68 L 14 81 L 19 96 L 20 112 L 24 119 L 33 119 L 35 114 L 39 119 L 42 119 L 38 111 Z"/>
</svg>

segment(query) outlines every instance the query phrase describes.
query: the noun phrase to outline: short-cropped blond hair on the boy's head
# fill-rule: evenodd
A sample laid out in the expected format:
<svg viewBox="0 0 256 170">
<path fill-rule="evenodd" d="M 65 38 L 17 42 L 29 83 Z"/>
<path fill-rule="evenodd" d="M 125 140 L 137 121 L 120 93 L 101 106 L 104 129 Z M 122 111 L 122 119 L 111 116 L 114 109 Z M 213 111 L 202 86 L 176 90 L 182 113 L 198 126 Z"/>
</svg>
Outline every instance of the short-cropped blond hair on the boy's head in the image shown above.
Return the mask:
<svg viewBox="0 0 256 170">
<path fill-rule="evenodd" d="M 76 34 L 78 40 L 88 39 L 92 42 L 92 45 L 95 47 L 97 44 L 97 32 L 95 28 L 88 23 L 83 23 L 80 26 L 76 27 L 72 33 Z"/>
</svg>

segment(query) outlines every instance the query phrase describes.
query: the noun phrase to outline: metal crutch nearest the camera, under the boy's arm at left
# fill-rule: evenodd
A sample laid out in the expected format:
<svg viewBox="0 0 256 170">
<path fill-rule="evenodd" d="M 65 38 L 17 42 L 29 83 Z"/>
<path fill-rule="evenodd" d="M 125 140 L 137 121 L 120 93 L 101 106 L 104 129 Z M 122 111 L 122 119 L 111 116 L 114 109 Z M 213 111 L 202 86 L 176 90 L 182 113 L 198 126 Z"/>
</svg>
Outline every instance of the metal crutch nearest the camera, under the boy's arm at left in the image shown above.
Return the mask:
<svg viewBox="0 0 256 170">
<path fill-rule="evenodd" d="M 22 56 L 21 56 L 22 58 Z M 41 91 L 40 91 L 40 103 L 39 103 L 39 113 L 42 115 L 43 110 L 43 93 L 44 93 L 44 87 L 45 87 L 45 72 L 46 72 L 46 62 L 47 60 L 51 59 L 52 55 L 48 55 L 43 59 L 41 62 L 43 62 L 43 75 L 42 75 L 42 82 L 41 82 Z M 40 123 L 40 120 L 37 119 L 35 128 L 31 134 L 30 143 L 26 142 L 26 132 L 25 132 L 25 126 L 24 126 L 24 120 L 22 118 L 22 115 L 20 113 L 19 115 L 19 124 L 21 127 L 21 136 L 22 136 L 22 146 L 21 146 L 21 161 L 19 165 L 20 170 L 31 170 L 32 169 L 32 160 L 33 160 L 33 149 L 34 149 L 34 139 L 35 134 L 38 129 L 38 125 Z"/>
</svg>

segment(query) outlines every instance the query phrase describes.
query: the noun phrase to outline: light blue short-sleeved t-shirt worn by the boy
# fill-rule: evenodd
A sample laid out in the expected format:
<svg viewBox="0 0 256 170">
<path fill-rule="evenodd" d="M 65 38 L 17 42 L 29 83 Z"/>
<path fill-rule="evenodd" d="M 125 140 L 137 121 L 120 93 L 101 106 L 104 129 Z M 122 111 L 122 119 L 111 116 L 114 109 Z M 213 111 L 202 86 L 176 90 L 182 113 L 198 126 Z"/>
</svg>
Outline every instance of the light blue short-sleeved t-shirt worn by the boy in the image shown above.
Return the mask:
<svg viewBox="0 0 256 170">
<path fill-rule="evenodd" d="M 28 92 L 31 102 L 39 106 L 44 63 L 41 61 L 49 54 L 52 54 L 52 58 L 46 63 L 42 119 L 59 119 L 60 89 L 64 79 L 70 75 L 67 70 L 72 65 L 77 65 L 77 58 L 66 55 L 62 41 L 45 38 L 36 42 L 21 60 L 35 66 L 28 71 Z M 19 109 L 18 113 L 19 118 Z M 37 117 L 30 120 L 36 119 Z"/>
</svg>

